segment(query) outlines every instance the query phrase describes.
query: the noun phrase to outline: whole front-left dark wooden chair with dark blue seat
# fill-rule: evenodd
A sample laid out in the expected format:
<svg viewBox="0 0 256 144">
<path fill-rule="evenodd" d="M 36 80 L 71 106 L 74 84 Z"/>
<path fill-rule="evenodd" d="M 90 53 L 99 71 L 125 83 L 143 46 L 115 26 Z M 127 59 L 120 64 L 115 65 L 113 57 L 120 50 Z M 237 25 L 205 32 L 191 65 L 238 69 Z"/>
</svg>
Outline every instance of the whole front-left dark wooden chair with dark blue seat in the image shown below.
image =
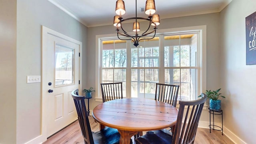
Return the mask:
<svg viewBox="0 0 256 144">
<path fill-rule="evenodd" d="M 120 134 L 117 129 L 105 127 L 98 132 L 92 132 L 85 106 L 85 96 L 78 95 L 78 89 L 71 92 L 76 106 L 78 121 L 85 144 L 119 144 Z M 132 142 L 132 140 L 131 140 Z M 131 143 L 132 144 L 132 143 Z"/>
</svg>

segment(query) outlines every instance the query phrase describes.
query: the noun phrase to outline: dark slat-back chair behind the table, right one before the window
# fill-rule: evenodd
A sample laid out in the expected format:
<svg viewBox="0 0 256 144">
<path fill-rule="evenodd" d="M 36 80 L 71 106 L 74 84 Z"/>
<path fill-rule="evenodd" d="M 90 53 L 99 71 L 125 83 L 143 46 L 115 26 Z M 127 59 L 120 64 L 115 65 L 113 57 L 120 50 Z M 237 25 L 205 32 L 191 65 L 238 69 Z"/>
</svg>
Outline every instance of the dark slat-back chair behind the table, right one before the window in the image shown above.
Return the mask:
<svg viewBox="0 0 256 144">
<path fill-rule="evenodd" d="M 155 100 L 171 104 L 176 107 L 179 85 L 156 83 Z"/>
</svg>

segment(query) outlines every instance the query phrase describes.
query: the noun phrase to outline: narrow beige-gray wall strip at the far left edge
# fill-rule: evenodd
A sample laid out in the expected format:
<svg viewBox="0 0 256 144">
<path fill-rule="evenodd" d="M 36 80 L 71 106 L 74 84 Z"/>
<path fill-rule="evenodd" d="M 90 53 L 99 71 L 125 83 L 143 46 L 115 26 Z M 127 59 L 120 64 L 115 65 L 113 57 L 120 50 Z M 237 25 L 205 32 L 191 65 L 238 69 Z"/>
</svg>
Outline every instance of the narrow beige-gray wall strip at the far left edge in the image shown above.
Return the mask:
<svg viewBox="0 0 256 144">
<path fill-rule="evenodd" d="M 0 144 L 16 143 L 16 0 L 0 0 Z"/>
</svg>

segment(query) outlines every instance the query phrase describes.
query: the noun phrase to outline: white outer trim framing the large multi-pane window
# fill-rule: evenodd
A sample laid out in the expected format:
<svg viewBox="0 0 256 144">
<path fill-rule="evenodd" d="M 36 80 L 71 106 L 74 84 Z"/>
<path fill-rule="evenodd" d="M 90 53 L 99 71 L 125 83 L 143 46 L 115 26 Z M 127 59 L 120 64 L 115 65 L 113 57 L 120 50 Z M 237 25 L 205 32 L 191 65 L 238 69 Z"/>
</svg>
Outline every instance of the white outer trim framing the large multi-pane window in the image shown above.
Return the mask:
<svg viewBox="0 0 256 144">
<path fill-rule="evenodd" d="M 170 28 L 170 29 L 162 29 L 162 30 L 157 30 L 157 34 L 164 34 L 166 32 L 171 32 L 171 33 L 180 33 L 180 32 L 191 32 L 191 31 L 200 31 L 200 38 L 201 38 L 201 45 L 199 46 L 199 51 L 200 52 L 200 63 L 198 66 L 202 68 L 202 70 L 199 70 L 200 77 L 201 79 L 198 80 L 200 81 L 201 86 L 198 87 L 198 92 L 205 92 L 206 91 L 206 25 L 203 26 L 190 26 L 190 27 L 182 27 L 182 28 Z M 95 100 L 96 102 L 102 102 L 102 96 L 100 92 L 100 79 L 101 79 L 101 74 L 100 74 L 100 40 L 101 38 L 116 38 L 116 34 L 104 34 L 104 35 L 96 35 L 96 76 L 95 76 Z M 161 43 L 160 43 L 161 44 Z M 127 61 L 128 62 L 128 61 Z"/>
</svg>

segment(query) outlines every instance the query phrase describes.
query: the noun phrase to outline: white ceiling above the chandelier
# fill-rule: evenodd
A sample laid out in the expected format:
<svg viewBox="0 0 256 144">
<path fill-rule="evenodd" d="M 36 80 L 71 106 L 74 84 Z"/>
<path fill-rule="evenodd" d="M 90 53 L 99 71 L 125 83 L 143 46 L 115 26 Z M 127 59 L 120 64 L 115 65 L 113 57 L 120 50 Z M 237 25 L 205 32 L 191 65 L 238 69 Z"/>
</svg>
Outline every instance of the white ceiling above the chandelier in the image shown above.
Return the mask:
<svg viewBox="0 0 256 144">
<path fill-rule="evenodd" d="M 87 27 L 113 24 L 116 15 L 116 0 L 49 0 L 64 12 Z M 156 14 L 160 20 L 180 16 L 220 12 L 232 0 L 155 0 Z M 135 0 L 124 0 L 126 14 L 123 18 L 135 17 Z M 141 7 L 146 0 L 137 1 L 137 16 L 146 18 Z M 160 21 L 161 22 L 161 21 Z"/>
</svg>

